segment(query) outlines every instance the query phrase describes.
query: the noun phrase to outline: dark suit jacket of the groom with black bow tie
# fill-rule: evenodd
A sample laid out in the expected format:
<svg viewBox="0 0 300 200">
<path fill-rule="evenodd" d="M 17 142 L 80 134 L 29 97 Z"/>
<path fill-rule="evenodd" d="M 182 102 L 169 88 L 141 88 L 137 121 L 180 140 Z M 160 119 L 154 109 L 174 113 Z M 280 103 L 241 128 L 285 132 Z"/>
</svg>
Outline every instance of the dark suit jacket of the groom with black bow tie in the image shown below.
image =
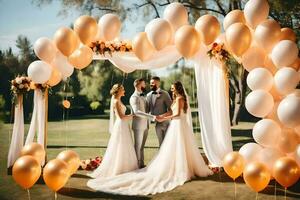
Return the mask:
<svg viewBox="0 0 300 200">
<path fill-rule="evenodd" d="M 149 111 L 152 115 L 161 115 L 170 110 L 172 100 L 168 92 L 160 90 L 157 94 L 155 102 L 152 102 L 153 91 L 147 94 L 147 102 L 149 104 Z"/>
</svg>

